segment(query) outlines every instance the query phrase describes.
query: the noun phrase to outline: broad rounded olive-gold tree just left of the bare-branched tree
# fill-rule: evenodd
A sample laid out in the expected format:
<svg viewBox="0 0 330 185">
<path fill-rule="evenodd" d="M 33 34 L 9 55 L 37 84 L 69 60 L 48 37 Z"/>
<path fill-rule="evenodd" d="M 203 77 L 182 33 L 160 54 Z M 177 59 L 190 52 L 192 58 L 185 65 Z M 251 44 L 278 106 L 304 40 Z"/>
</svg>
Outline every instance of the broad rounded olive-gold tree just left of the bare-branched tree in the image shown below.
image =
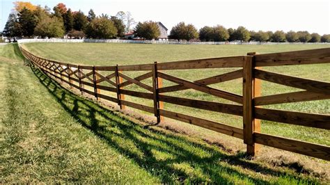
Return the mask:
<svg viewBox="0 0 330 185">
<path fill-rule="evenodd" d="M 106 17 L 97 17 L 86 27 L 88 38 L 108 39 L 115 38 L 117 35 L 116 26 Z"/>
</svg>

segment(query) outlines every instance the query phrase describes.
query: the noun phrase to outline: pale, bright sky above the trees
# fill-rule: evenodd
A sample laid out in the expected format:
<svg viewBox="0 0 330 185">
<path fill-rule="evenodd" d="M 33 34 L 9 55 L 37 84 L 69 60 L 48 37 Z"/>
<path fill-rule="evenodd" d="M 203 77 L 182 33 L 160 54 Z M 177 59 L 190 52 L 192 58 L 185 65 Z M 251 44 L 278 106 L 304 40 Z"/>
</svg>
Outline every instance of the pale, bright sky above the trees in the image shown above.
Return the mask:
<svg viewBox="0 0 330 185">
<path fill-rule="evenodd" d="M 1 0 L 0 31 L 3 30 L 12 0 Z M 53 8 L 57 3 L 65 3 L 72 10 L 82 10 L 85 14 L 93 8 L 97 15 L 116 15 L 120 10 L 130 11 L 136 22 L 160 21 L 168 29 L 178 22 L 203 26 L 221 24 L 226 28 L 245 26 L 249 30 L 301 31 L 310 33 L 330 33 L 330 1 L 327 0 L 278 0 L 278 1 L 215 1 L 215 0 L 31 0 L 31 3 Z"/>
</svg>

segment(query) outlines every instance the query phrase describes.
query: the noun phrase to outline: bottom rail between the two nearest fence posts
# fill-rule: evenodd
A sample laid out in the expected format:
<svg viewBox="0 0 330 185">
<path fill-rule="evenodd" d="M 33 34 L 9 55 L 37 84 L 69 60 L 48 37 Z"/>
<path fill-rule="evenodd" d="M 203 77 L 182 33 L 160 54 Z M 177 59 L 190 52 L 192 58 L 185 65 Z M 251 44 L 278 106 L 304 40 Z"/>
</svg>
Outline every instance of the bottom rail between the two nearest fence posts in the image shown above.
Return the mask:
<svg viewBox="0 0 330 185">
<path fill-rule="evenodd" d="M 159 110 L 160 115 L 163 115 L 167 118 L 171 118 L 174 120 L 179 120 L 182 122 L 187 122 L 189 124 L 194 124 L 198 127 L 203 127 L 205 129 L 210 129 L 213 131 L 217 131 L 222 134 L 226 134 L 228 136 L 233 136 L 235 138 L 243 139 L 243 129 L 239 129 L 237 127 L 233 127 L 227 124 L 221 124 L 218 122 L 212 122 L 210 120 L 205 120 L 201 118 L 196 118 L 190 115 L 184 115 L 181 113 L 174 113 L 166 110 Z"/>
</svg>

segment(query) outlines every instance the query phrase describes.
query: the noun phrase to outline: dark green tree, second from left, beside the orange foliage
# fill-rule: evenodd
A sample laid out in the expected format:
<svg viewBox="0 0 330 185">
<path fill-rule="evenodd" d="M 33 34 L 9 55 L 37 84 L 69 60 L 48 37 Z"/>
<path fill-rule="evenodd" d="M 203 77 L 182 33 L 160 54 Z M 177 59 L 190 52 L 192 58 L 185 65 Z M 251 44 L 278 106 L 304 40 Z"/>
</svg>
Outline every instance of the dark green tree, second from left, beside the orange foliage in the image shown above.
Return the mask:
<svg viewBox="0 0 330 185">
<path fill-rule="evenodd" d="M 23 8 L 18 14 L 18 22 L 22 27 L 22 35 L 31 37 L 36 27 L 36 17 L 31 10 Z"/>
</svg>

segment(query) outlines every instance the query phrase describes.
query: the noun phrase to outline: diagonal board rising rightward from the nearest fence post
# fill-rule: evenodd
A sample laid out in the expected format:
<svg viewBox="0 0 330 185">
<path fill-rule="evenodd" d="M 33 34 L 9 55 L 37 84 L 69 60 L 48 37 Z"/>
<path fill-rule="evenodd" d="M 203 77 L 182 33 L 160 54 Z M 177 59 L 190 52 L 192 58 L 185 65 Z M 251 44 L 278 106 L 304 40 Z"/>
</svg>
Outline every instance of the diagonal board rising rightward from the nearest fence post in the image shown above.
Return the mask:
<svg viewBox="0 0 330 185">
<path fill-rule="evenodd" d="M 294 92 L 294 93 L 283 93 L 278 95 L 268 95 L 263 97 L 256 97 L 254 104 L 256 106 L 270 105 L 270 104 L 284 104 L 292 102 L 306 102 L 313 100 L 330 99 L 330 95 L 322 93 L 313 93 L 307 90 Z"/>
</svg>

